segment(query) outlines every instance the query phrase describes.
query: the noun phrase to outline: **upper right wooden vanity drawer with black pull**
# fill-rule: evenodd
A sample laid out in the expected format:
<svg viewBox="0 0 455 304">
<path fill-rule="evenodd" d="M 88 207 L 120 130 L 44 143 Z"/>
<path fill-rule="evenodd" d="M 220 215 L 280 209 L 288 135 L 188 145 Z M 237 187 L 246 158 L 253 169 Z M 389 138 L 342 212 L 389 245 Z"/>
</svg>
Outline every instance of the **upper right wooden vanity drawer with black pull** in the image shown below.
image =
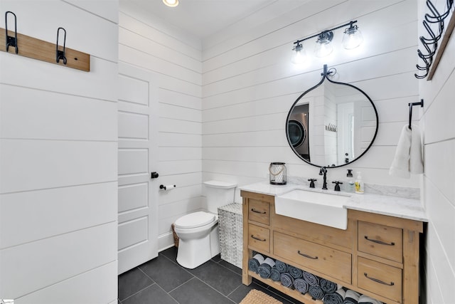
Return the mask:
<svg viewBox="0 0 455 304">
<path fill-rule="evenodd" d="M 400 228 L 358 221 L 358 251 L 402 263 L 403 231 Z"/>
</svg>

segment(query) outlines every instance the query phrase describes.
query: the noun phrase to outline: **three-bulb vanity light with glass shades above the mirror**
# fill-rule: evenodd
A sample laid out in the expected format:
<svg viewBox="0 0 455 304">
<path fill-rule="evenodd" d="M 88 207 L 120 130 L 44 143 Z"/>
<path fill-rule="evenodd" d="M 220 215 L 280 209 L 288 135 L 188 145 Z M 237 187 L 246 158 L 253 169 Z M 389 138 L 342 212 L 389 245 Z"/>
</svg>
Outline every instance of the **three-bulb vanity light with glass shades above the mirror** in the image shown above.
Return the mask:
<svg viewBox="0 0 455 304">
<path fill-rule="evenodd" d="M 303 57 L 304 57 L 304 46 L 302 45 L 303 41 L 306 41 L 310 38 L 317 37 L 316 40 L 316 46 L 314 48 L 314 53 L 316 57 L 325 57 L 330 55 L 333 51 L 333 46 L 331 41 L 333 40 L 333 31 L 338 29 L 338 28 L 343 28 L 345 26 L 349 26 L 348 28 L 345 29 L 344 31 L 344 37 L 343 37 L 343 47 L 346 48 L 347 50 L 357 48 L 360 46 L 360 43 L 363 41 L 362 33 L 360 33 L 358 26 L 354 25 L 354 23 L 357 23 L 357 20 L 350 21 L 349 23 L 343 24 L 341 26 L 337 26 L 335 28 L 331 28 L 325 31 L 322 31 L 321 33 L 317 33 L 316 35 L 309 36 L 303 39 L 299 39 L 294 42 L 294 48 L 292 48 L 292 51 L 294 51 L 293 56 L 291 61 L 293 63 L 302 63 Z"/>
</svg>

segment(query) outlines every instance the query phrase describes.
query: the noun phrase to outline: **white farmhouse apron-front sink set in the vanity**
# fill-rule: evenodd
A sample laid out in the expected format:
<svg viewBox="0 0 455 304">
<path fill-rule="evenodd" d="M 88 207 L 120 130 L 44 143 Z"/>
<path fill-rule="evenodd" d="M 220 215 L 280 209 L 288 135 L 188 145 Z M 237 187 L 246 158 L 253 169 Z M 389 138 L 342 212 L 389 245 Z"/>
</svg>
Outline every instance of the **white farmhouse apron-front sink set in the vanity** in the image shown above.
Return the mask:
<svg viewBox="0 0 455 304">
<path fill-rule="evenodd" d="M 275 213 L 294 219 L 346 230 L 348 209 L 346 194 L 330 194 L 295 189 L 275 197 Z"/>
</svg>

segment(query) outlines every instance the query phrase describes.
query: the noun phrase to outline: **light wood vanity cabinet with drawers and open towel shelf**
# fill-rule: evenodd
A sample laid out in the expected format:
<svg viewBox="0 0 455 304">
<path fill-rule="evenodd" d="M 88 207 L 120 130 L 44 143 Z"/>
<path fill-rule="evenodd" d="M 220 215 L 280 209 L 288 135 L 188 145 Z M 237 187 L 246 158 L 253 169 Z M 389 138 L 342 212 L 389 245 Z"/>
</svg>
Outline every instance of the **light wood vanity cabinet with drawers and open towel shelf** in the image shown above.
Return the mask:
<svg viewBox="0 0 455 304">
<path fill-rule="evenodd" d="M 348 209 L 348 229 L 341 230 L 275 214 L 274 196 L 241 196 L 245 285 L 256 278 L 303 303 L 323 303 L 249 271 L 255 251 L 383 303 L 419 303 L 421 221 Z"/>
</svg>

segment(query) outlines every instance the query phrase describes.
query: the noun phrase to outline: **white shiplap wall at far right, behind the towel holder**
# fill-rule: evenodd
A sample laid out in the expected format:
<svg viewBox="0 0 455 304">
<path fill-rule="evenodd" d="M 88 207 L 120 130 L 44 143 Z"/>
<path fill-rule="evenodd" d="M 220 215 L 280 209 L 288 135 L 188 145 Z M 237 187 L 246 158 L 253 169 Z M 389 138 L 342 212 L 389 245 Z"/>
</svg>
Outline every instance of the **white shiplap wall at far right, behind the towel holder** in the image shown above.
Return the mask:
<svg viewBox="0 0 455 304">
<path fill-rule="evenodd" d="M 419 1 L 419 34 L 428 12 Z M 445 1 L 437 1 L 444 11 Z M 452 11 L 454 11 L 452 9 Z M 446 21 L 448 22 L 448 21 Z M 419 45 L 422 48 L 422 45 Z M 424 244 L 426 303 L 453 303 L 455 286 L 455 37 L 452 34 L 431 81 L 419 80 L 424 99 L 424 206 L 429 223 Z M 421 63 L 422 64 L 422 63 Z"/>
</svg>

